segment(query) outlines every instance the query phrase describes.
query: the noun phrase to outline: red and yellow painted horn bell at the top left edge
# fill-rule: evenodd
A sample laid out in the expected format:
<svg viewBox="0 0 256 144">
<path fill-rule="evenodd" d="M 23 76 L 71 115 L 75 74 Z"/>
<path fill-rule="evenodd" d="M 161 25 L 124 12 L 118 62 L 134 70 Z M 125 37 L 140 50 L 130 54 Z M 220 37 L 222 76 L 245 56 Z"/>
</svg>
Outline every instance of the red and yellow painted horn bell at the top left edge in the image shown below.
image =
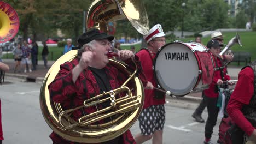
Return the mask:
<svg viewBox="0 0 256 144">
<path fill-rule="evenodd" d="M 12 39 L 19 31 L 20 21 L 16 11 L 0 1 L 0 43 Z"/>
</svg>

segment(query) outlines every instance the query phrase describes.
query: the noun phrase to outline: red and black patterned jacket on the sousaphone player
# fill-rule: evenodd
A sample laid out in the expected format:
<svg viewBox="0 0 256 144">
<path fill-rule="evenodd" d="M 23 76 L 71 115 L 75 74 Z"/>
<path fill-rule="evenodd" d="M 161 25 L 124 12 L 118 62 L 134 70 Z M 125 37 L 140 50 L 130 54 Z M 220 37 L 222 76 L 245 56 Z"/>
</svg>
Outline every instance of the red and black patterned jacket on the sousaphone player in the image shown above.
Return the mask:
<svg viewBox="0 0 256 144">
<path fill-rule="evenodd" d="M 72 69 L 79 63 L 78 59 L 74 59 L 71 62 L 66 62 L 60 66 L 60 71 L 56 75 L 55 80 L 50 83 L 48 86 L 50 97 L 55 103 L 61 103 L 63 109 L 70 109 L 71 107 L 77 107 L 83 105 L 84 100 L 94 97 L 95 95 L 101 94 L 100 87 L 97 84 L 97 81 L 92 74 L 92 71 L 86 69 L 82 71 L 74 83 L 72 81 Z M 126 64 L 129 64 L 132 68 L 132 62 L 130 59 L 125 61 Z M 141 79 L 144 86 L 147 85 L 147 79 L 144 75 L 144 72 L 141 67 L 139 58 L 136 56 L 136 65 L 138 67 L 137 75 Z M 123 82 L 126 80 L 126 77 L 122 71 L 119 71 L 117 68 L 112 65 L 106 65 L 106 74 L 109 77 L 110 86 L 112 89 L 120 87 Z M 95 107 L 89 107 L 89 109 L 84 109 L 85 113 L 95 112 Z M 82 116 L 82 111 L 75 111 L 73 113 L 73 118 L 78 119 Z M 101 123 L 101 122 L 100 122 Z M 123 135 L 123 143 L 130 144 L 135 143 L 135 140 L 132 137 L 130 130 L 127 130 Z M 56 133 L 51 133 L 50 138 L 55 143 L 72 143 L 65 139 L 62 139 Z"/>
</svg>

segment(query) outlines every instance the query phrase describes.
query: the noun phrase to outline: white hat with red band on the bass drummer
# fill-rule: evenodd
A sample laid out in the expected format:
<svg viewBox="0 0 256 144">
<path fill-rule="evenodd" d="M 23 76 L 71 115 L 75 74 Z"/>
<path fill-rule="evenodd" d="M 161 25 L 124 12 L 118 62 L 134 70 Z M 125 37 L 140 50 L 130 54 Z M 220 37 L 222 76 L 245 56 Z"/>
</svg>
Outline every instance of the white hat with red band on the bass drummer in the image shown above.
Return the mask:
<svg viewBox="0 0 256 144">
<path fill-rule="evenodd" d="M 165 32 L 162 30 L 162 26 L 160 24 L 156 24 L 154 27 L 152 27 L 147 35 L 144 35 L 144 39 L 147 41 L 147 43 L 154 39 L 154 38 L 158 38 L 158 37 L 164 37 Z"/>
</svg>

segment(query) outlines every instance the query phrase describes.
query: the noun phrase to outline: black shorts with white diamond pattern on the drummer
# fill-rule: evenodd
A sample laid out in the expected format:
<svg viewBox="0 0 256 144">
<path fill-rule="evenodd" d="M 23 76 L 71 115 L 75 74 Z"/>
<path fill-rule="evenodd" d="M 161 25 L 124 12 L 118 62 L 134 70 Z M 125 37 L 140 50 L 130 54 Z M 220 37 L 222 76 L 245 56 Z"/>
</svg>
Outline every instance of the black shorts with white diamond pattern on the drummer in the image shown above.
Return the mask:
<svg viewBox="0 0 256 144">
<path fill-rule="evenodd" d="M 163 130 L 165 124 L 165 106 L 152 105 L 143 109 L 139 116 L 139 128 L 142 135 L 153 135 L 155 130 Z"/>
</svg>

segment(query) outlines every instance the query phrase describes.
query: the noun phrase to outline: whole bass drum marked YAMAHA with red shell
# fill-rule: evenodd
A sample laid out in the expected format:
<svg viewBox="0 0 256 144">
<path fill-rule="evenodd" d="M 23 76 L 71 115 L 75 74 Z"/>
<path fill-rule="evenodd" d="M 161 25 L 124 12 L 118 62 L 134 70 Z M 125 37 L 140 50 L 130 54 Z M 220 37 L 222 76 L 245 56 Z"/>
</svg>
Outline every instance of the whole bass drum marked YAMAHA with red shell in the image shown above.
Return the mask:
<svg viewBox="0 0 256 144">
<path fill-rule="evenodd" d="M 158 87 L 182 97 L 208 88 L 215 63 L 206 46 L 175 41 L 164 45 L 154 59 Z"/>
</svg>

